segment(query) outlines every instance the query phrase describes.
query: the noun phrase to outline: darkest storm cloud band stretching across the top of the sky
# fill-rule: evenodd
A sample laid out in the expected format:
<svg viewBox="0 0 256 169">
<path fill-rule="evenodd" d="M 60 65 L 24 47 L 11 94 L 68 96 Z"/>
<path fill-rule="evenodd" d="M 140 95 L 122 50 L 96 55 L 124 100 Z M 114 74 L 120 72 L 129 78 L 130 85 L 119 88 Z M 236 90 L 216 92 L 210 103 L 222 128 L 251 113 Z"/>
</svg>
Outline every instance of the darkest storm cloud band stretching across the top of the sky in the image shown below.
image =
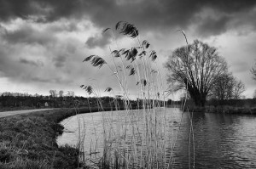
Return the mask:
<svg viewBox="0 0 256 169">
<path fill-rule="evenodd" d="M 255 0 L 0 0 L 0 20 L 20 17 L 48 22 L 61 18 L 86 17 L 102 28 L 112 26 L 119 20 L 126 20 L 143 30 L 168 31 L 170 27 L 186 29 L 195 24 L 198 33 L 208 36 L 226 31 L 229 23 L 244 13 L 256 13 L 253 10 L 255 4 Z M 218 18 L 210 15 L 201 16 L 201 20 L 198 20 L 197 14 L 206 8 L 211 9 Z M 242 23 L 256 27 L 256 21 L 247 20 L 243 18 Z"/>
</svg>

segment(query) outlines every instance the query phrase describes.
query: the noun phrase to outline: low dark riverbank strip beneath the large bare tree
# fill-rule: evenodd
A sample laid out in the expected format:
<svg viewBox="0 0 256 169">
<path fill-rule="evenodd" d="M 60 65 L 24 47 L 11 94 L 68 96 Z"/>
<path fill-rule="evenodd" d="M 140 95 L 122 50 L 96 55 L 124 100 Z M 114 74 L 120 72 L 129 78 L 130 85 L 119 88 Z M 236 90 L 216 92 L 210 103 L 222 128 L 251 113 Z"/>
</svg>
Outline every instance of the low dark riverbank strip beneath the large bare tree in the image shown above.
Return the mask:
<svg viewBox="0 0 256 169">
<path fill-rule="evenodd" d="M 205 113 L 224 113 L 236 115 L 256 115 L 256 107 L 234 107 L 234 106 L 206 106 L 206 107 L 187 107 L 185 111 L 205 112 Z"/>
</svg>

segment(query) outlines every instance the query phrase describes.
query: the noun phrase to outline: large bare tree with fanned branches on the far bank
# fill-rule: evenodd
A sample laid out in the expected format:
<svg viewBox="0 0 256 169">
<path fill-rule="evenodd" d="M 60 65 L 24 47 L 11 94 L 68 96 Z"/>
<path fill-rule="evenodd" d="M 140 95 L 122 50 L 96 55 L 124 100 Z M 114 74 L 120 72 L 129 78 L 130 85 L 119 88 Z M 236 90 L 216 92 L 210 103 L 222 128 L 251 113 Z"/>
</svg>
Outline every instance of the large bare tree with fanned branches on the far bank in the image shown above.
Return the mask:
<svg viewBox="0 0 256 169">
<path fill-rule="evenodd" d="M 226 61 L 217 49 L 198 40 L 177 48 L 165 66 L 170 70 L 167 79 L 170 91 L 185 88 L 197 106 L 205 105 L 215 80 L 227 70 Z"/>
</svg>

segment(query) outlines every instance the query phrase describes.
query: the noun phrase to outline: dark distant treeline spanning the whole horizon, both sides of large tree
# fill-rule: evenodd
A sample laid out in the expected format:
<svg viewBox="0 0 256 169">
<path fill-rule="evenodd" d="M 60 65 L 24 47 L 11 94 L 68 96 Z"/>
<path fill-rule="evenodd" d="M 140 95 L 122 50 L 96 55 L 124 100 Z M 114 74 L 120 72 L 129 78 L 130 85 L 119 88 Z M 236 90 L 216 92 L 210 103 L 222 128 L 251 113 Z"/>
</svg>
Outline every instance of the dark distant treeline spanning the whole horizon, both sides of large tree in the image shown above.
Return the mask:
<svg viewBox="0 0 256 169">
<path fill-rule="evenodd" d="M 145 103 L 145 102 L 144 102 Z M 130 100 L 129 104 L 131 109 L 140 109 L 143 107 L 143 99 Z M 186 104 L 187 106 L 195 106 L 192 99 L 185 100 L 182 98 L 179 101 L 161 100 L 147 100 L 146 107 L 154 106 L 168 106 L 168 107 L 181 107 Z M 227 99 L 207 100 L 210 106 L 230 105 L 235 107 L 255 107 L 256 99 Z M 126 104 L 127 106 L 127 104 Z M 75 95 L 39 95 L 27 93 L 2 93 L 0 95 L 0 109 L 2 110 L 20 110 L 20 109 L 37 109 L 37 108 L 73 108 L 73 107 L 99 107 L 99 108 L 113 108 L 113 110 L 123 110 L 125 108 L 125 100 L 120 96 L 101 98 L 89 97 L 84 98 Z"/>
</svg>

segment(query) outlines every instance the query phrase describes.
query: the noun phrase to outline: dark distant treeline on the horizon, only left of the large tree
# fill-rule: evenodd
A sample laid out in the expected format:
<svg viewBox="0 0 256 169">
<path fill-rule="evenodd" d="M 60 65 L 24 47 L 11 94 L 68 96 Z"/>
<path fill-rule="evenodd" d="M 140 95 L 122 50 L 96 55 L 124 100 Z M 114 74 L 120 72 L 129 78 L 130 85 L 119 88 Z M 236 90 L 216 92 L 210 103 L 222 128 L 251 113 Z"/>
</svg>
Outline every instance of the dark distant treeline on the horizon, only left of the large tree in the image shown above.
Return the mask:
<svg viewBox="0 0 256 169">
<path fill-rule="evenodd" d="M 150 107 L 155 106 L 164 106 L 167 102 L 160 100 L 148 100 L 145 106 Z M 84 98 L 81 96 L 74 95 L 54 95 L 49 96 L 44 95 L 30 95 L 26 93 L 2 93 L 0 96 L 0 108 L 72 108 L 72 107 L 99 107 L 99 108 L 111 108 L 114 109 L 124 109 L 125 100 L 120 96 L 108 97 L 104 96 L 101 98 Z M 126 101 L 127 106 L 127 101 Z M 132 109 L 143 107 L 143 100 L 129 100 L 129 106 Z"/>
</svg>

